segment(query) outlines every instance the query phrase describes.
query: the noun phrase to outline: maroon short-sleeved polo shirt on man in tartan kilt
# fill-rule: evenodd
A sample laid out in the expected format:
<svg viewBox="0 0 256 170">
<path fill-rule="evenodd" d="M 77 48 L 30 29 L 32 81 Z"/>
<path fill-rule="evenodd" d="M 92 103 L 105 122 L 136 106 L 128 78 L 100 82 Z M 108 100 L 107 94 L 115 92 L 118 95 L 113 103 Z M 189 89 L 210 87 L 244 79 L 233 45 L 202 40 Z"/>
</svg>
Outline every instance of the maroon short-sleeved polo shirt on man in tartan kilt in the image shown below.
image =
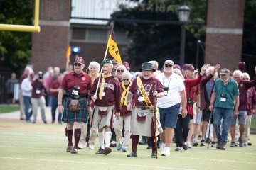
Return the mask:
<svg viewBox="0 0 256 170">
<path fill-rule="evenodd" d="M 82 72 L 76 74 L 74 71 L 65 74 L 60 84 L 60 89 L 64 89 L 67 93 L 71 93 L 73 86 L 80 86 L 79 94 L 88 94 L 92 86 L 92 80 L 89 74 Z"/>
</svg>

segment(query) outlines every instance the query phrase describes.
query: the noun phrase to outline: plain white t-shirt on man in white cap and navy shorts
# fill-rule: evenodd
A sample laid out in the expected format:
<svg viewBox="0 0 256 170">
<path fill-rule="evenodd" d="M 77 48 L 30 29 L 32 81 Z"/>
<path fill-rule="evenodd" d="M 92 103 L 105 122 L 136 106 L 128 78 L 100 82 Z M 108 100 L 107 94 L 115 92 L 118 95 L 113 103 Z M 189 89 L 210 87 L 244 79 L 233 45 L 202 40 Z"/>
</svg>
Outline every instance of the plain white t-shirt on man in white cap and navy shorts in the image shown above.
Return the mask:
<svg viewBox="0 0 256 170">
<path fill-rule="evenodd" d="M 169 108 L 178 103 L 181 103 L 180 91 L 185 90 L 183 80 L 178 74 L 172 73 L 171 77 L 166 78 L 164 73 L 156 75 L 164 86 L 164 96 L 157 99 L 157 107 Z"/>
</svg>

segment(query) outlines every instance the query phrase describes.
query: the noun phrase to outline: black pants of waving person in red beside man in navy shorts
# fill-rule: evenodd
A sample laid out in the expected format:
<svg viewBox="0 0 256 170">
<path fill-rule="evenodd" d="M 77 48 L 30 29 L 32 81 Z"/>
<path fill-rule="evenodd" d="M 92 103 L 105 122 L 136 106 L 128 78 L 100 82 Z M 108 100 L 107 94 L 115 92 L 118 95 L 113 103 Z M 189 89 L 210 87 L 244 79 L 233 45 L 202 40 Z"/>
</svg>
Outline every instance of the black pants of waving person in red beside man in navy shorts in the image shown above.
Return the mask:
<svg viewBox="0 0 256 170">
<path fill-rule="evenodd" d="M 177 125 L 174 129 L 176 147 L 182 147 L 183 142 L 186 142 L 186 137 L 189 132 L 189 122 L 191 120 L 190 115 L 186 115 L 185 118 L 182 118 L 181 114 L 178 115 Z"/>
</svg>

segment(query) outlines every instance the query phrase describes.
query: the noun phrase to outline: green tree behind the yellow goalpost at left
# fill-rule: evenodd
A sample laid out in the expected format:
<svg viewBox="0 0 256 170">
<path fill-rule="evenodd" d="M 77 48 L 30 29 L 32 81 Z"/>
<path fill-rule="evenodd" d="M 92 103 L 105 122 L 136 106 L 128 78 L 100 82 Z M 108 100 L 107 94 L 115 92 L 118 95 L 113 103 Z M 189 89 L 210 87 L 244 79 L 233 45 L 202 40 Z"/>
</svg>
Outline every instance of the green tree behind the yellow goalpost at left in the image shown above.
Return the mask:
<svg viewBox="0 0 256 170">
<path fill-rule="evenodd" d="M 0 23 L 32 25 L 33 1 L 0 0 Z M 0 67 L 21 74 L 31 59 L 31 33 L 0 30 Z"/>
</svg>

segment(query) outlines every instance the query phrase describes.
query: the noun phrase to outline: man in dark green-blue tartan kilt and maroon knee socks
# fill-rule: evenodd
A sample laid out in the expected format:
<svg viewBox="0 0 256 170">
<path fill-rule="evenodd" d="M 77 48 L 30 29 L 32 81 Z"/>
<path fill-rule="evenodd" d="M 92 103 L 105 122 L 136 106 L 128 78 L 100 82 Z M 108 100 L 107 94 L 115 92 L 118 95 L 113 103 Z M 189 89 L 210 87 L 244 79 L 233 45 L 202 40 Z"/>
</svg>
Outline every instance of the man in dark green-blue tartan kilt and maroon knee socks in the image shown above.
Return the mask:
<svg viewBox="0 0 256 170">
<path fill-rule="evenodd" d="M 83 72 L 85 61 L 82 57 L 75 58 L 74 71 L 65 74 L 58 94 L 58 111 L 63 112 L 63 122 L 67 123 L 65 135 L 68 137 L 67 152 L 78 154 L 78 143 L 81 136 L 81 123 L 88 123 L 90 103 L 88 93 L 91 89 L 90 76 Z M 65 94 L 64 94 L 65 91 Z M 73 147 L 73 127 L 75 145 Z"/>
</svg>

